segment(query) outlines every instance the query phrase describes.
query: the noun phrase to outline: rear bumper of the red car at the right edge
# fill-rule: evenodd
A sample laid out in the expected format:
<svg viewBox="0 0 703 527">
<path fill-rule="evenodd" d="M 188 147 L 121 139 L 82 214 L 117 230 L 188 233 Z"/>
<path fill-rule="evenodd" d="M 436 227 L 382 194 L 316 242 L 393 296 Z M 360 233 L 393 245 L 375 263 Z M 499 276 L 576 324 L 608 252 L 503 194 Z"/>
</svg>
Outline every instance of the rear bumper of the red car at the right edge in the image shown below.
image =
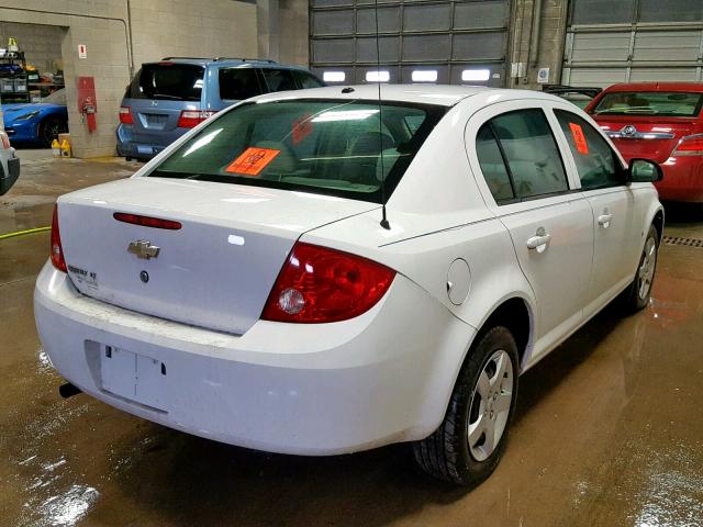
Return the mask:
<svg viewBox="0 0 703 527">
<path fill-rule="evenodd" d="M 660 200 L 703 202 L 703 156 L 670 157 L 661 168 L 663 180 L 655 183 Z"/>
</svg>

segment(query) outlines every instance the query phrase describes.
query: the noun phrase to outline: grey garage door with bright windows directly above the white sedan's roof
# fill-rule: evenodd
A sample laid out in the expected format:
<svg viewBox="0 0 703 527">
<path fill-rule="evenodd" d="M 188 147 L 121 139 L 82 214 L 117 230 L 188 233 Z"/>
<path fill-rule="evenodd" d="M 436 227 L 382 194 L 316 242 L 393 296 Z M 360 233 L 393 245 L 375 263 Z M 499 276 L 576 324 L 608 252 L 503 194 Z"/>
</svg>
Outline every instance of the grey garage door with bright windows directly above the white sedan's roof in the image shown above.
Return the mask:
<svg viewBox="0 0 703 527">
<path fill-rule="evenodd" d="M 311 69 L 327 82 L 502 87 L 510 0 L 311 0 Z M 378 72 L 377 72 L 378 71 Z M 417 72 L 420 71 L 420 72 Z"/>
</svg>

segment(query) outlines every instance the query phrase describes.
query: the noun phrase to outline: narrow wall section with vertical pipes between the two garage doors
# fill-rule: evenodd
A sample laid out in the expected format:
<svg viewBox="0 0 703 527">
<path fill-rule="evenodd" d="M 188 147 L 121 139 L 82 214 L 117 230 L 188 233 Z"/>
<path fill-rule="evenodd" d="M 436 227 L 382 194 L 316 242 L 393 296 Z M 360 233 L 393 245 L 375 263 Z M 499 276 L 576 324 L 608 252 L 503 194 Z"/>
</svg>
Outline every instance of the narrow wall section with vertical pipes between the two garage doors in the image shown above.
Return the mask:
<svg viewBox="0 0 703 527">
<path fill-rule="evenodd" d="M 537 82 L 539 68 L 549 68 L 549 83 L 560 82 L 568 3 L 568 0 L 513 2 L 510 59 L 512 64 L 522 64 L 523 71 L 521 76 L 511 78 L 511 87 L 540 89 Z M 540 22 L 535 46 L 533 34 L 537 31 L 535 16 L 538 8 Z"/>
</svg>

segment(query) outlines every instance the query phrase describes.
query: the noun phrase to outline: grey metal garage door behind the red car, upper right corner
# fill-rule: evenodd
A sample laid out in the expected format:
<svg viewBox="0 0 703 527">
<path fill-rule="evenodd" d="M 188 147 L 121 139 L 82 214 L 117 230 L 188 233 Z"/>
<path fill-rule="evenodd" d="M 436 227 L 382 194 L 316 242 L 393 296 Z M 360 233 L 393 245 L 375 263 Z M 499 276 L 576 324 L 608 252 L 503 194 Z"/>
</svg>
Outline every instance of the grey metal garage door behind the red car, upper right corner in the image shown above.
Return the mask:
<svg viewBox="0 0 703 527">
<path fill-rule="evenodd" d="M 703 0 L 572 0 L 561 82 L 696 81 Z"/>
</svg>

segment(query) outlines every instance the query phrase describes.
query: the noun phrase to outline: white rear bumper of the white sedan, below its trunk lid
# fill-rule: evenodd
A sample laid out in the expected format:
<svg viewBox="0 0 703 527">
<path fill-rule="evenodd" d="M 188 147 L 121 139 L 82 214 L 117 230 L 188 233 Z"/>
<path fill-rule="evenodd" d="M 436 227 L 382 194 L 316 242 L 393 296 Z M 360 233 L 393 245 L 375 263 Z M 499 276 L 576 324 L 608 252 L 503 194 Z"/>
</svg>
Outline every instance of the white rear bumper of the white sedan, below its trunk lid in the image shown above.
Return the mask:
<svg viewBox="0 0 703 527">
<path fill-rule="evenodd" d="M 89 299 L 49 264 L 37 279 L 34 304 L 44 349 L 83 392 L 190 434 L 297 455 L 426 437 L 444 417 L 475 336 L 400 274 L 379 304 L 353 321 L 259 321 L 243 336 Z M 158 407 L 104 389 L 105 345 L 165 365 L 158 385 L 149 386 Z"/>
</svg>

